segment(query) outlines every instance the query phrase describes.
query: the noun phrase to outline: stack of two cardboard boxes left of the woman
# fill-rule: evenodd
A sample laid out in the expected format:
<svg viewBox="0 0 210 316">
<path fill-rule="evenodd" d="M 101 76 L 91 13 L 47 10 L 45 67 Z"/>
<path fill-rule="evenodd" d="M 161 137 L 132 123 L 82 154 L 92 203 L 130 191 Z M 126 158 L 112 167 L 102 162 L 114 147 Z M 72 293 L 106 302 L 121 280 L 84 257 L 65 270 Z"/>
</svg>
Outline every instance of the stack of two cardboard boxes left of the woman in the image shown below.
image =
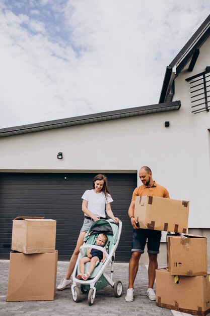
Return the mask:
<svg viewBox="0 0 210 316">
<path fill-rule="evenodd" d="M 7 301 L 53 300 L 57 274 L 56 221 L 13 220 Z"/>
</svg>

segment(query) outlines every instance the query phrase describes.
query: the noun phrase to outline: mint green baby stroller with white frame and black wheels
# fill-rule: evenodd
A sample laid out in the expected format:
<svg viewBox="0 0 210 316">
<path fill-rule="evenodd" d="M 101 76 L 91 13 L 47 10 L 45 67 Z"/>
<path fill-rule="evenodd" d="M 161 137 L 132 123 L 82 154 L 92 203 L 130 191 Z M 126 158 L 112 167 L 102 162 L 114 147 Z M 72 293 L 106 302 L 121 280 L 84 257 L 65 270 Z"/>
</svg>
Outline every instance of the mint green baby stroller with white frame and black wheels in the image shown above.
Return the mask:
<svg viewBox="0 0 210 316">
<path fill-rule="evenodd" d="M 93 223 L 89 231 L 86 233 L 84 238 L 84 244 L 80 247 L 80 254 L 78 256 L 75 269 L 73 272 L 73 285 L 72 285 L 72 295 L 75 302 L 80 301 L 80 285 L 81 291 L 83 293 L 88 292 L 88 303 L 93 304 L 94 298 L 96 296 L 96 290 L 102 289 L 107 285 L 111 285 L 114 289 L 115 297 L 120 297 L 122 295 L 122 283 L 121 281 L 113 281 L 114 272 L 114 258 L 115 250 L 118 246 L 120 235 L 122 230 L 122 222 L 115 224 L 113 220 L 98 220 Z M 97 236 L 100 233 L 105 233 L 107 235 L 106 250 L 102 247 L 94 245 Z M 80 273 L 80 259 L 86 256 L 88 248 L 95 248 L 101 250 L 105 253 L 104 262 L 96 262 L 95 269 L 91 274 L 90 278 L 86 281 L 78 280 L 76 276 Z M 105 273 L 105 268 L 111 263 L 110 277 Z M 85 264 L 85 272 L 88 271 L 90 262 Z"/>
</svg>

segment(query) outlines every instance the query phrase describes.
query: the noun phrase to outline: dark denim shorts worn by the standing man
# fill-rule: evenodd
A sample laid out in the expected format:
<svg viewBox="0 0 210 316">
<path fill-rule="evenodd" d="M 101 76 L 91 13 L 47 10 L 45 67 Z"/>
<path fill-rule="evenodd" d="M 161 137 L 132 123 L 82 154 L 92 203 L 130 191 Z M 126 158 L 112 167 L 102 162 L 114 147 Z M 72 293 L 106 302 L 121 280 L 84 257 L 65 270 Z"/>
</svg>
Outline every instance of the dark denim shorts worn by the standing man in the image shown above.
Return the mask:
<svg viewBox="0 0 210 316">
<path fill-rule="evenodd" d="M 161 231 L 151 229 L 134 229 L 132 237 L 132 249 L 131 251 L 145 252 L 145 245 L 147 243 L 148 253 L 159 253 L 161 242 Z"/>
</svg>

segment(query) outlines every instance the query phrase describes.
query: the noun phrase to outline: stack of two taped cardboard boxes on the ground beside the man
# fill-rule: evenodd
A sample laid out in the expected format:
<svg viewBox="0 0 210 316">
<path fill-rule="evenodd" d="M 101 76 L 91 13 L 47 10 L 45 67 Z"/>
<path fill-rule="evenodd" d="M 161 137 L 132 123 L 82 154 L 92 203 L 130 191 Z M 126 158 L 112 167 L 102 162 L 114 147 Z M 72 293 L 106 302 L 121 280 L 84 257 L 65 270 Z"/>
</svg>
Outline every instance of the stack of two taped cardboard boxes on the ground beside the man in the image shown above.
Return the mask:
<svg viewBox="0 0 210 316">
<path fill-rule="evenodd" d="M 168 268 L 156 270 L 156 304 L 193 315 L 210 312 L 206 238 L 167 235 Z"/>
</svg>

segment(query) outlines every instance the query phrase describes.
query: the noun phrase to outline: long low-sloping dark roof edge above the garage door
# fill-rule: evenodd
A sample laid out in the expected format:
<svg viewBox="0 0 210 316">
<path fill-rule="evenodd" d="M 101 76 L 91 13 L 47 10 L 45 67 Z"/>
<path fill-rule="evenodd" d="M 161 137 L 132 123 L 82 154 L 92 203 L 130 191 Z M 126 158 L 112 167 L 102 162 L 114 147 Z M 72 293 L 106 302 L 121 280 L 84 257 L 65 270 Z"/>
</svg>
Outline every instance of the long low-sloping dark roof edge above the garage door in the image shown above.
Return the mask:
<svg viewBox="0 0 210 316">
<path fill-rule="evenodd" d="M 153 104 L 151 106 L 102 112 L 90 115 L 83 115 L 73 118 L 60 119 L 48 122 L 41 122 L 35 124 L 21 125 L 9 128 L 0 129 L 0 137 L 8 137 L 20 134 L 34 133 L 40 131 L 47 131 L 62 127 L 71 127 L 76 125 L 83 125 L 89 123 L 97 123 L 103 121 L 124 119 L 133 116 L 154 114 L 160 112 L 179 110 L 181 107 L 180 101 Z"/>
</svg>

